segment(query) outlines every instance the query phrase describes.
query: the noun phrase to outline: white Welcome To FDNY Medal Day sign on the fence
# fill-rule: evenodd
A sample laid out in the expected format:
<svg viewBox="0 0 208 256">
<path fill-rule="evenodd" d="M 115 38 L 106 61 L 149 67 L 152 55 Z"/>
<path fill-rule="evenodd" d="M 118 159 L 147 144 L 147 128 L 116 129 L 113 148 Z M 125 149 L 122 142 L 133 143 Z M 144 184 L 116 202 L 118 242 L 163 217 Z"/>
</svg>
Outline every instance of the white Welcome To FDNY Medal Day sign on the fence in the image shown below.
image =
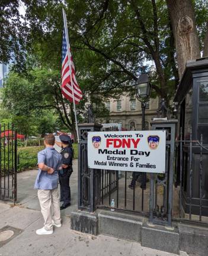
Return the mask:
<svg viewBox="0 0 208 256">
<path fill-rule="evenodd" d="M 162 130 L 89 132 L 88 167 L 164 173 L 165 135 Z"/>
</svg>

